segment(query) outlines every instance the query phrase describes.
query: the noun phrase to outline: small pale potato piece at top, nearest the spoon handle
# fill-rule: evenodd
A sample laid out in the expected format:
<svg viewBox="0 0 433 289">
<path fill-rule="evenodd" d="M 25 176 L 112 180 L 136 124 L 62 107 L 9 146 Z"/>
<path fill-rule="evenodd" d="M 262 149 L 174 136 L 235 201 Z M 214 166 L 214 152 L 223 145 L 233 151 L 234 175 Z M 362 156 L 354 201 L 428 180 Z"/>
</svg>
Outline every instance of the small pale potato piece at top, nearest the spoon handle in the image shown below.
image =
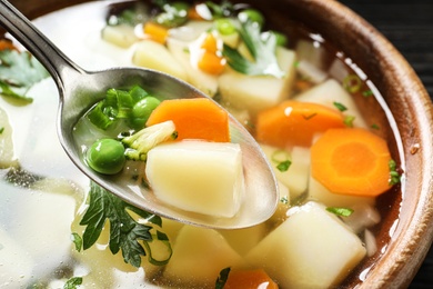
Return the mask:
<svg viewBox="0 0 433 289">
<path fill-rule="evenodd" d="M 102 39 L 121 48 L 129 48 L 139 40 L 134 28 L 128 24 L 105 26 Z"/>
</svg>

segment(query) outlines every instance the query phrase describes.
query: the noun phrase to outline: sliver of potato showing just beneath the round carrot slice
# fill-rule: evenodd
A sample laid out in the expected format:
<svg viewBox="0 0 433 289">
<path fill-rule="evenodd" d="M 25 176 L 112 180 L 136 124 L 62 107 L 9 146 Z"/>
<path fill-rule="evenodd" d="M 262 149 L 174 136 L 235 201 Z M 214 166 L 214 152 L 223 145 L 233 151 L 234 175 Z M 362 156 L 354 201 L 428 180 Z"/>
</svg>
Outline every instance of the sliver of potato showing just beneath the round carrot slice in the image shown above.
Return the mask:
<svg viewBox="0 0 433 289">
<path fill-rule="evenodd" d="M 309 180 L 309 197 L 310 200 L 320 201 L 328 207 L 351 208 L 355 203 L 374 205 L 374 197 L 356 197 L 340 193 L 333 193 L 328 190 L 322 183 L 310 176 Z"/>
</svg>

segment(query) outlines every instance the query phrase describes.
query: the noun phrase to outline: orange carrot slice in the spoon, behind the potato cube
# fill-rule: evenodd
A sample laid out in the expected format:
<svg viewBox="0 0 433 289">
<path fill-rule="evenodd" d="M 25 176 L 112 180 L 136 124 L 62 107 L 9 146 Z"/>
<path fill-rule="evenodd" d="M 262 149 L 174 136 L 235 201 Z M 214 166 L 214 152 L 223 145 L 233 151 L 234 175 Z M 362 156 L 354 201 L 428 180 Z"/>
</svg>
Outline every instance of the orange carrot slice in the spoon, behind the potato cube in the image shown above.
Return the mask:
<svg viewBox="0 0 433 289">
<path fill-rule="evenodd" d="M 167 120 L 174 122 L 178 140 L 230 142 L 229 116 L 209 99 L 164 100 L 152 111 L 147 126 Z"/>
</svg>

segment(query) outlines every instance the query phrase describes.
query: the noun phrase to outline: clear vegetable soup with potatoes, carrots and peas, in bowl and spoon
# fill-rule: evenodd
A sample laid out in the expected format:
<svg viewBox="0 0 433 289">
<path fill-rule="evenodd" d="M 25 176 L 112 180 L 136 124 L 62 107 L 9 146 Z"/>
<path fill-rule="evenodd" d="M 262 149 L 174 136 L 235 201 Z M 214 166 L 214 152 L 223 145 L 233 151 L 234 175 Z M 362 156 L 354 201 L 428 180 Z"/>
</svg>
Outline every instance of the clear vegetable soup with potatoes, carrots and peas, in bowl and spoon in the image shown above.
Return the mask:
<svg viewBox="0 0 433 289">
<path fill-rule="evenodd" d="M 229 1 L 90 2 L 34 22 L 85 69 L 145 67 L 213 98 L 260 143 L 280 201 L 263 223 L 214 230 L 120 200 L 68 159 L 53 81 L 4 38 L 0 287 L 346 287 L 386 249 L 377 236 L 397 221 L 387 208 L 404 180 L 394 120 L 369 77 L 322 36 L 296 22 L 279 30 L 258 8 Z M 141 193 L 164 188 L 172 193 L 157 197 L 181 210 L 231 218 L 248 191 L 226 121 L 207 99 L 112 88 L 73 133 L 95 171 Z"/>
</svg>

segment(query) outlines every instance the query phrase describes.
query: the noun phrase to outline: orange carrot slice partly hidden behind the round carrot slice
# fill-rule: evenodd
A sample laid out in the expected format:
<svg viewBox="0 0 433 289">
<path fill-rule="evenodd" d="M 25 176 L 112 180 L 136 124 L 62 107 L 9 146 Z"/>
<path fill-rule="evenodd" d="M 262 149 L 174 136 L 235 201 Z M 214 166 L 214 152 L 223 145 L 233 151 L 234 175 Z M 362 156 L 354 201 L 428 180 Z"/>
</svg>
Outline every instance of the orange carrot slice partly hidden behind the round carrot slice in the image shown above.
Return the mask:
<svg viewBox="0 0 433 289">
<path fill-rule="evenodd" d="M 310 147 L 316 133 L 330 128 L 344 128 L 344 117 L 339 110 L 286 100 L 259 112 L 255 133 L 260 142 L 280 148 Z"/>
</svg>

